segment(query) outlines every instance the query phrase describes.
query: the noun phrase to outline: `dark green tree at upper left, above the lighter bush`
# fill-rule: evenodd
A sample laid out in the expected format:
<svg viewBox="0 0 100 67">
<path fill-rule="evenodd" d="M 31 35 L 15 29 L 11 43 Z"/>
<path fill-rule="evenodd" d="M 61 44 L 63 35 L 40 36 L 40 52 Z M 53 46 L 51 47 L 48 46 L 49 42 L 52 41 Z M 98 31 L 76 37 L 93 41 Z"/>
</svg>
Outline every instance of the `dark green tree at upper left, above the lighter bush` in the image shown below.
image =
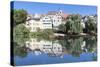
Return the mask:
<svg viewBox="0 0 100 67">
<path fill-rule="evenodd" d="M 12 10 L 13 24 L 18 25 L 21 23 L 25 23 L 27 19 L 27 12 L 23 9 Z"/>
</svg>

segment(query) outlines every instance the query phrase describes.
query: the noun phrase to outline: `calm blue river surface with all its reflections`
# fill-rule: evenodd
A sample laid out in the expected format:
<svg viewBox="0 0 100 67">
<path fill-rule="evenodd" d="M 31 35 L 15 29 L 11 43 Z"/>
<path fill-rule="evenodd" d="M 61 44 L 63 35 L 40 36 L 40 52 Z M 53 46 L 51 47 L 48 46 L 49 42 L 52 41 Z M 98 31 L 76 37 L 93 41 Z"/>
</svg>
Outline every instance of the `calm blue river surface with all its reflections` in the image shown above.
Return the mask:
<svg viewBox="0 0 100 67">
<path fill-rule="evenodd" d="M 60 40 L 30 38 L 14 46 L 14 65 L 72 63 L 97 60 L 97 38 L 68 37 Z"/>
</svg>

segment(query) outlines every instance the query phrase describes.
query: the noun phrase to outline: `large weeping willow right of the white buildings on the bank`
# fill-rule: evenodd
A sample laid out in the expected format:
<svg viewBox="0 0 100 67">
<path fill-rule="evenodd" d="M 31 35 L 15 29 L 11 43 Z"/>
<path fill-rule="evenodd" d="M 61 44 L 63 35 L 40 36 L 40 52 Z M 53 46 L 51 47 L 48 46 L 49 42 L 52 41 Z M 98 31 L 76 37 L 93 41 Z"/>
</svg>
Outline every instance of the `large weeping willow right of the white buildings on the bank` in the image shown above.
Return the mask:
<svg viewBox="0 0 100 67">
<path fill-rule="evenodd" d="M 79 34 L 83 32 L 83 27 L 81 25 L 81 15 L 72 14 L 67 18 L 66 21 L 66 32 L 67 34 Z"/>
</svg>

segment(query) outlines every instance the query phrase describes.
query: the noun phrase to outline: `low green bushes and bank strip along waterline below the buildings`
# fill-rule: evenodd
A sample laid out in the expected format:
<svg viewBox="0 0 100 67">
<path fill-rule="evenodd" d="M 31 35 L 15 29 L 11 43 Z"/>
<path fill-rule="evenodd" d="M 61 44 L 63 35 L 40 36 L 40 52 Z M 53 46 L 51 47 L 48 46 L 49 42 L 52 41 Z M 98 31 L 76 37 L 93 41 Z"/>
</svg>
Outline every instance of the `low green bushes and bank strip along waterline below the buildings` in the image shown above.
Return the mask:
<svg viewBox="0 0 100 67">
<path fill-rule="evenodd" d="M 48 29 L 46 29 L 48 30 Z M 80 34 L 64 34 L 64 33 L 54 33 L 52 30 L 43 30 L 42 32 L 30 32 L 29 36 L 32 38 L 63 38 L 63 37 L 85 37 L 85 36 L 97 36 L 96 33 L 94 34 L 88 34 L 88 33 L 80 33 Z M 62 34 L 62 35 L 60 35 Z"/>
</svg>

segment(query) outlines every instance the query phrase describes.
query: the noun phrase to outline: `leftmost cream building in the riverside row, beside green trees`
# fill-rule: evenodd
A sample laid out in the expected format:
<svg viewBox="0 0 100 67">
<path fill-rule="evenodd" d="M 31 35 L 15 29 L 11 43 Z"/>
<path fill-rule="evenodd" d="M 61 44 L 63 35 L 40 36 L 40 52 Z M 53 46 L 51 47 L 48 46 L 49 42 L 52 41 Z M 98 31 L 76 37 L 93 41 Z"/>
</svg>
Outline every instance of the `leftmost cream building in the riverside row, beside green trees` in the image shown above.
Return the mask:
<svg viewBox="0 0 100 67">
<path fill-rule="evenodd" d="M 40 22 L 40 15 L 35 14 L 28 16 L 25 26 L 29 28 L 30 32 L 35 32 L 38 29 L 41 29 L 43 26 Z"/>
</svg>

